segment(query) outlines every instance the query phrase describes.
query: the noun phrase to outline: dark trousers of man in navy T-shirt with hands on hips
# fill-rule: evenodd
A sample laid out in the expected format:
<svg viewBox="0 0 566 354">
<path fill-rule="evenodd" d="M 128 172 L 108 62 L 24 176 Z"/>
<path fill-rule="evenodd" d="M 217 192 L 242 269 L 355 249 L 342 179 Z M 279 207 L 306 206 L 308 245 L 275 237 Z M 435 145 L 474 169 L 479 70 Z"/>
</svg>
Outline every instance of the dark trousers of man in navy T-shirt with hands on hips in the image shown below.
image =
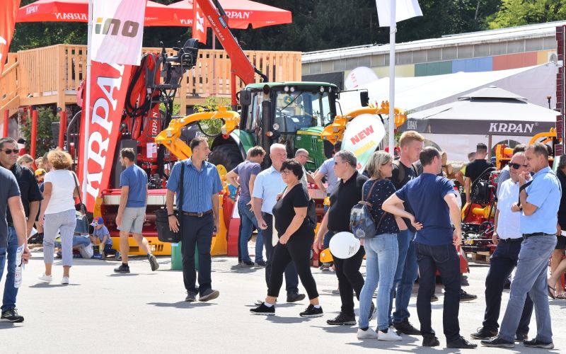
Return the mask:
<svg viewBox="0 0 566 354">
<path fill-rule="evenodd" d="M 444 284 L 444 309 L 442 324 L 446 341 L 460 338 L 460 257 L 454 245 L 430 246 L 417 244 L 417 263 L 419 264 L 419 293 L 417 295 L 417 314 L 423 337 L 434 336 L 431 325 L 430 295 L 436 287 L 436 273 L 440 272 Z"/>
</svg>

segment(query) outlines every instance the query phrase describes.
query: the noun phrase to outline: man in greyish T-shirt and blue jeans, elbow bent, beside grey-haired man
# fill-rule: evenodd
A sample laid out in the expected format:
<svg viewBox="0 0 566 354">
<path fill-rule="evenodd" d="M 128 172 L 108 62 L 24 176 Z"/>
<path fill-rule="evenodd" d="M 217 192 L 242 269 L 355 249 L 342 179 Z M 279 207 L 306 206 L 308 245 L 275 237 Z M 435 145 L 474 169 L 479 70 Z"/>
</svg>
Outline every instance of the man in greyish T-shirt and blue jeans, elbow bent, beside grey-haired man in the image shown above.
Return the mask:
<svg viewBox="0 0 566 354">
<path fill-rule="evenodd" d="M 265 157 L 265 150 L 262 147 L 253 147 L 248 151 L 248 159 L 238 164 L 235 169 L 226 173 L 226 181 L 231 185 L 240 188 L 238 198 L 238 212 L 240 214 L 240 234 L 238 234 L 238 252 L 240 253 L 241 264 L 253 267 L 254 263 L 248 251 L 248 241 L 252 236 L 252 228 L 258 229 L 258 237 L 255 239 L 255 263 L 265 267 L 263 261 L 263 239 L 261 229 L 258 227 L 258 219 L 253 215 L 253 204 L 251 202 L 250 190 L 253 190 L 255 177 L 261 172 L 260 164 Z M 238 181 L 239 177 L 239 181 Z"/>
</svg>

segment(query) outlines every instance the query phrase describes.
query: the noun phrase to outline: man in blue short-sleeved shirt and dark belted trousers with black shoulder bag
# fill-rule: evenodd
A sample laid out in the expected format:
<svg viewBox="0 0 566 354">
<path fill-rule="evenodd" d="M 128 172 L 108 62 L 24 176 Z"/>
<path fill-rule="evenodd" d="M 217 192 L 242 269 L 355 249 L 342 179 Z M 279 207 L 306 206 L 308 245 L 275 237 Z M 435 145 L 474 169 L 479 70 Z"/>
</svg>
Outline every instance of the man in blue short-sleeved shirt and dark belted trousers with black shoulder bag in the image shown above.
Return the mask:
<svg viewBox="0 0 566 354">
<path fill-rule="evenodd" d="M 171 231 L 181 229 L 181 253 L 183 254 L 183 281 L 187 290 L 185 301 L 209 301 L 219 297 L 218 290 L 212 290 L 210 247 L 212 234 L 219 229 L 220 200 L 218 193 L 223 189 L 216 166 L 206 161 L 210 154 L 207 139 L 195 137 L 190 142 L 192 156 L 175 164 L 167 181 L 167 214 Z M 185 164 L 181 176 L 181 164 Z M 183 200 L 180 200 L 180 185 L 183 183 Z M 178 220 L 173 213 L 173 198 L 177 193 Z M 195 247 L 199 252 L 199 286 L 195 270 Z"/>
</svg>

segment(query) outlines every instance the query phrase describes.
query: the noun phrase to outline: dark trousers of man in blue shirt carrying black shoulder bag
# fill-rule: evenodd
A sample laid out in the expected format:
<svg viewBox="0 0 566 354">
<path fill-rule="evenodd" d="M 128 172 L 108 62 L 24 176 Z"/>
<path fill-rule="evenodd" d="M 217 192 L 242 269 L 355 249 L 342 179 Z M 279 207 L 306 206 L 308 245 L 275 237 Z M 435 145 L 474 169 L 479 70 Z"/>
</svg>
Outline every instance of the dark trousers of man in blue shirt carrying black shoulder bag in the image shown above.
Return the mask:
<svg viewBox="0 0 566 354">
<path fill-rule="evenodd" d="M 183 254 L 183 281 L 188 292 L 200 292 L 212 289 L 210 246 L 212 244 L 212 232 L 214 229 L 214 217 L 211 214 L 204 217 L 190 217 L 183 215 L 183 236 L 181 241 L 181 253 Z M 195 246 L 199 251 L 199 286 L 197 282 L 197 270 L 195 269 Z"/>
</svg>

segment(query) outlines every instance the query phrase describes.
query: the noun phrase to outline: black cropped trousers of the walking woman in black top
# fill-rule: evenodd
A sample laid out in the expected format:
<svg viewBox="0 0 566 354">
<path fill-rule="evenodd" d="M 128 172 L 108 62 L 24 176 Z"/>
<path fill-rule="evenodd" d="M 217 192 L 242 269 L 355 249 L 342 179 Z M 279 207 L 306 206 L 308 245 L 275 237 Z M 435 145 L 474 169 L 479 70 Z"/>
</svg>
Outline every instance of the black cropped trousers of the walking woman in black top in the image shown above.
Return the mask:
<svg viewBox="0 0 566 354">
<path fill-rule="evenodd" d="M 313 232 L 295 233 L 287 244 L 277 244 L 272 254 L 270 285 L 267 296 L 278 297 L 283 285 L 283 273 L 290 263 L 295 265 L 301 283 L 305 287 L 308 299 L 318 297 L 316 282 L 311 273 L 311 246 L 313 245 Z"/>
</svg>

